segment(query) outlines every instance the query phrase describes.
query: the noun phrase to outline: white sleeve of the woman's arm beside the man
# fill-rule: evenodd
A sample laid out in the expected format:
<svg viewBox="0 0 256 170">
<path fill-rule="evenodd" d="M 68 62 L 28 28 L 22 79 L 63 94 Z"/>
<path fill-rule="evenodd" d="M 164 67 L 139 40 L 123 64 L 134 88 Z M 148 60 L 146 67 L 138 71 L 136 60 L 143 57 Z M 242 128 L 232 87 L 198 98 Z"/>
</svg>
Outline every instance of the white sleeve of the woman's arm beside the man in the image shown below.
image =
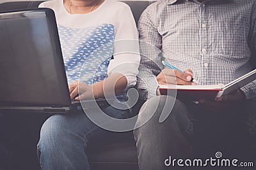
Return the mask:
<svg viewBox="0 0 256 170">
<path fill-rule="evenodd" d="M 113 59 L 109 61 L 108 76 L 122 74 L 126 78 L 125 85 L 116 84 L 119 92 L 126 91 L 136 85 L 136 75 L 140 64 L 140 48 L 138 30 L 128 5 L 119 10 L 115 24 L 115 43 Z M 107 78 L 108 79 L 108 78 Z"/>
</svg>

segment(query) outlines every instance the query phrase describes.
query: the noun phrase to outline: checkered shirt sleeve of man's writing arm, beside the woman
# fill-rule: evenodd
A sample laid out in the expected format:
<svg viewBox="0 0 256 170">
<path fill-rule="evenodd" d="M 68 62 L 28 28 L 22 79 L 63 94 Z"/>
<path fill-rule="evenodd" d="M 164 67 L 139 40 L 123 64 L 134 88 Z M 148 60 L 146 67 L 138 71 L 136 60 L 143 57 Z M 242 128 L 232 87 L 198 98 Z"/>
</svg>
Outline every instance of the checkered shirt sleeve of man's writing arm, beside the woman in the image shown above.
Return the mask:
<svg viewBox="0 0 256 170">
<path fill-rule="evenodd" d="M 155 13 L 151 15 L 150 13 Z M 142 99 L 156 96 L 158 83 L 156 76 L 163 69 L 161 64 L 161 36 L 157 32 L 154 18 L 156 11 L 147 9 L 141 15 L 138 30 L 140 32 L 141 62 L 138 74 L 137 88 Z"/>
</svg>

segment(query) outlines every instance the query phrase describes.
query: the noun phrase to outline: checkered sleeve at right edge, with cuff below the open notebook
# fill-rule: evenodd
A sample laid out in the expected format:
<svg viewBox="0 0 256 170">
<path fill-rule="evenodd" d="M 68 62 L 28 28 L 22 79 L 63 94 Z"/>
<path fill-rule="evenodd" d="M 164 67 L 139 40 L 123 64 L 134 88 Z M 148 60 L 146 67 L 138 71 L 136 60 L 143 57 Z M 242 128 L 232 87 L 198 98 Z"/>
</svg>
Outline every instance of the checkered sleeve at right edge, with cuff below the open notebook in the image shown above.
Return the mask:
<svg viewBox="0 0 256 170">
<path fill-rule="evenodd" d="M 249 46 L 252 50 L 252 57 L 254 57 L 253 61 L 256 61 L 256 4 L 253 6 L 252 10 L 251 30 L 249 37 L 252 38 L 250 39 Z M 256 67 L 256 63 L 253 63 L 252 65 L 253 67 Z M 256 97 L 256 80 L 248 83 L 248 85 L 242 87 L 241 90 L 244 92 L 246 99 L 253 99 Z"/>
</svg>

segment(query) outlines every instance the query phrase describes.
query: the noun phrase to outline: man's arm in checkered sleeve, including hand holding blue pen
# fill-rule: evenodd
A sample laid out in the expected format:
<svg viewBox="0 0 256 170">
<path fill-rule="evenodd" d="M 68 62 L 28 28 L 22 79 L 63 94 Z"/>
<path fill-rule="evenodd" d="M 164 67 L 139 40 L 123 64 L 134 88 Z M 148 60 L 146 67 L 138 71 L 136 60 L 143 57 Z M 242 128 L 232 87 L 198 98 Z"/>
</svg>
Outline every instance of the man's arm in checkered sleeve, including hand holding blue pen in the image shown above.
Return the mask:
<svg viewBox="0 0 256 170">
<path fill-rule="evenodd" d="M 150 11 L 154 13 L 150 14 Z M 193 73 L 190 69 L 180 73 L 175 69 L 163 69 L 162 39 L 157 31 L 157 10 L 145 10 L 139 22 L 141 65 L 138 74 L 138 90 L 140 96 L 147 100 L 156 96 L 158 84 L 160 85 L 196 85 L 191 82 Z M 156 18 L 154 18 L 156 17 Z M 168 56 L 172 57 L 172 56 Z"/>
</svg>

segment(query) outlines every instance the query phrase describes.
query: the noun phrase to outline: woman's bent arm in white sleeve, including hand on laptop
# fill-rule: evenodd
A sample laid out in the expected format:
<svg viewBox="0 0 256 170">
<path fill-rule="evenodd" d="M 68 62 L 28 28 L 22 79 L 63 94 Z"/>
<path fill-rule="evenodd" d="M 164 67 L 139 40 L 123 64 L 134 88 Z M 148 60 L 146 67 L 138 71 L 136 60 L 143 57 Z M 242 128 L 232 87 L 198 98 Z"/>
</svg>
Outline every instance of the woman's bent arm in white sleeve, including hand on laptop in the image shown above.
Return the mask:
<svg viewBox="0 0 256 170">
<path fill-rule="evenodd" d="M 129 6 L 122 6 L 115 18 L 115 42 L 113 59 L 108 66 L 108 78 L 94 83 L 92 86 L 79 82 L 70 85 L 70 97 L 76 100 L 84 98 L 112 97 L 136 84 L 136 74 L 140 63 L 138 31 Z M 125 18 L 125 19 L 124 19 Z M 124 53 L 127 52 L 133 53 Z M 92 92 L 93 90 L 93 92 Z M 114 97 L 114 96 L 113 96 Z"/>
</svg>

